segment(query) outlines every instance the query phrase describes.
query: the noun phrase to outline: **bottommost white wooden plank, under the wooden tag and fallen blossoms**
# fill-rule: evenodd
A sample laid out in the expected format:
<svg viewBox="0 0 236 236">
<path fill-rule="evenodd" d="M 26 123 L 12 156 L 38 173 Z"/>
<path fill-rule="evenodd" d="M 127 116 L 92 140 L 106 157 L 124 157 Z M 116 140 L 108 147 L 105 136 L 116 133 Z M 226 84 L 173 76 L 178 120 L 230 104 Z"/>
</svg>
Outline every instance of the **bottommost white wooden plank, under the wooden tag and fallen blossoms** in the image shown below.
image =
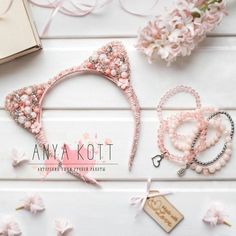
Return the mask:
<svg viewBox="0 0 236 236">
<path fill-rule="evenodd" d="M 69 183 L 68 183 L 69 184 Z M 235 183 L 214 183 L 209 189 L 202 183 L 169 184 L 156 182 L 153 188 L 161 191 L 170 190 L 167 196 L 183 214 L 185 219 L 172 231 L 171 235 L 227 235 L 236 233 Z M 14 215 L 20 222 L 23 235 L 55 235 L 54 219 L 64 217 L 74 224 L 70 235 L 164 235 L 164 231 L 144 212 L 135 219 L 137 209 L 129 205 L 133 196 L 140 196 L 145 191 L 145 182 L 140 183 L 104 183 L 103 189 L 80 189 L 76 184 L 63 183 L 64 188 L 56 183 L 17 184 L 18 187 L 1 187 L 1 214 Z M 26 186 L 26 187 L 23 187 Z M 115 187 L 114 187 L 115 186 Z M 230 189 L 227 189 L 230 187 Z M 26 211 L 15 211 L 21 199 L 27 194 L 38 192 L 43 197 L 46 211 L 31 215 Z M 188 199 L 188 200 L 187 200 Z M 191 199 L 191 201 L 190 201 Z M 202 222 L 202 217 L 212 201 L 220 201 L 225 207 L 232 227 L 217 226 L 211 228 Z"/>
</svg>

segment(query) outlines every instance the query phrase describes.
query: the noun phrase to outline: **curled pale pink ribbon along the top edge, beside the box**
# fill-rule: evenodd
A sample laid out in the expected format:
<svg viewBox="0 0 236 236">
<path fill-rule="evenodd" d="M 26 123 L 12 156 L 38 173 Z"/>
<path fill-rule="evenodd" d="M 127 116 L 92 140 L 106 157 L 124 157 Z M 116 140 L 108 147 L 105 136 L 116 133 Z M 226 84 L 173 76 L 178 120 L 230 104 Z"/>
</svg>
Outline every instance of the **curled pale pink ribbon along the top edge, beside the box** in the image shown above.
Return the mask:
<svg viewBox="0 0 236 236">
<path fill-rule="evenodd" d="M 124 0 L 119 0 L 119 4 L 121 8 L 129 14 L 136 15 L 136 16 L 147 16 L 150 14 L 150 13 L 140 14 L 132 10 L 129 10 L 125 6 L 123 1 Z M 150 7 L 150 11 L 157 5 L 158 1 L 159 0 L 154 1 L 153 5 Z M 47 34 L 49 27 L 58 12 L 67 16 L 83 17 L 83 16 L 91 14 L 95 9 L 99 9 L 99 8 L 103 8 L 107 6 L 108 4 L 113 2 L 113 0 L 104 0 L 104 2 L 101 4 L 98 3 L 98 0 L 94 0 L 94 4 L 80 3 L 79 0 L 52 0 L 52 1 L 48 0 L 48 3 L 42 3 L 42 1 L 40 3 L 37 0 L 29 0 L 29 2 L 38 7 L 53 9 L 46 25 L 43 28 L 43 31 L 41 34 L 41 36 L 43 37 Z M 69 6 L 73 8 L 73 10 L 71 10 Z"/>
</svg>

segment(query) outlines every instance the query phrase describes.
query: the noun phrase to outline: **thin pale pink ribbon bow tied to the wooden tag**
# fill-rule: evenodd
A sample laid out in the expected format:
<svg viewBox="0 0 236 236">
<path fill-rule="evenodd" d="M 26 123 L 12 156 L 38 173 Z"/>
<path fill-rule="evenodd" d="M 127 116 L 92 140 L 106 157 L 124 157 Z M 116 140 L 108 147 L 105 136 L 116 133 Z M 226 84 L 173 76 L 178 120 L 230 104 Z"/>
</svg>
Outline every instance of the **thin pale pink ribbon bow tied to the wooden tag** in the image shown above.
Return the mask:
<svg viewBox="0 0 236 236">
<path fill-rule="evenodd" d="M 158 191 L 158 190 L 151 190 L 151 183 L 152 183 L 152 180 L 151 178 L 149 178 L 147 180 L 146 192 L 141 196 L 132 197 L 130 199 L 130 205 L 139 207 L 138 212 L 136 213 L 136 217 L 140 214 L 140 212 L 142 212 L 144 205 L 149 197 L 165 196 L 172 193 L 170 191 L 150 193 L 150 191 Z"/>
</svg>

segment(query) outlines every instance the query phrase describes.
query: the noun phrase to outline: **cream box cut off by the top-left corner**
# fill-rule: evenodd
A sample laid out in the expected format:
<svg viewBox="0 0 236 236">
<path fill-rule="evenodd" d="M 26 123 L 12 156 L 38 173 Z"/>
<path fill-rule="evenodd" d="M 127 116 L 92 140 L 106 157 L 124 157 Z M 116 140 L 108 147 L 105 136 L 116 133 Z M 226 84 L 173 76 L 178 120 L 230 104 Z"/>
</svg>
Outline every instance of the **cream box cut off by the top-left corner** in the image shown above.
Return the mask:
<svg viewBox="0 0 236 236">
<path fill-rule="evenodd" d="M 4 10 L 10 0 L 1 0 Z M 41 49 L 27 0 L 13 0 L 9 10 L 0 17 L 0 64 Z"/>
</svg>

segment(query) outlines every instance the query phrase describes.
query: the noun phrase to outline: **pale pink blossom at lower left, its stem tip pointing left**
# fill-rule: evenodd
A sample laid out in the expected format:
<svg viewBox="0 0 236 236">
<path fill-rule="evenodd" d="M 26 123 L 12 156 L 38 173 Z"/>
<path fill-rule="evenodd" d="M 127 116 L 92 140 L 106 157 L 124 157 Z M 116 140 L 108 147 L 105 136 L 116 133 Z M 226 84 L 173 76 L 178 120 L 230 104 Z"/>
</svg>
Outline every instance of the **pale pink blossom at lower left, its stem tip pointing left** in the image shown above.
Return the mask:
<svg viewBox="0 0 236 236">
<path fill-rule="evenodd" d="M 23 201 L 20 207 L 16 208 L 16 210 L 23 210 L 23 209 L 30 211 L 33 214 L 36 214 L 37 212 L 40 211 L 44 211 L 45 206 L 43 203 L 43 199 L 38 194 L 31 195 Z"/>
</svg>

